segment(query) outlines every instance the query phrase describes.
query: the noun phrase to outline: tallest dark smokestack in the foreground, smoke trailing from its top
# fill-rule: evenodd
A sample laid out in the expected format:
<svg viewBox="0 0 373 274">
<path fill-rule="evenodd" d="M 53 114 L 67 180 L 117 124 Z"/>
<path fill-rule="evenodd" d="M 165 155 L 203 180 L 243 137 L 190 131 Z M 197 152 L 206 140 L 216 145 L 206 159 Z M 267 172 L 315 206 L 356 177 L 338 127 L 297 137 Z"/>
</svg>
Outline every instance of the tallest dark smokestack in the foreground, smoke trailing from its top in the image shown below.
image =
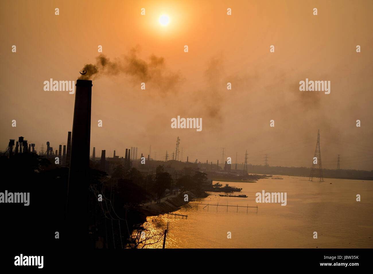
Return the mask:
<svg viewBox="0 0 373 274">
<path fill-rule="evenodd" d="M 70 168 L 65 239 L 68 246 L 83 250 L 88 245 L 88 231 L 81 228 L 88 224 L 92 81 L 78 79 L 75 86 L 71 144 L 68 142 Z"/>
</svg>

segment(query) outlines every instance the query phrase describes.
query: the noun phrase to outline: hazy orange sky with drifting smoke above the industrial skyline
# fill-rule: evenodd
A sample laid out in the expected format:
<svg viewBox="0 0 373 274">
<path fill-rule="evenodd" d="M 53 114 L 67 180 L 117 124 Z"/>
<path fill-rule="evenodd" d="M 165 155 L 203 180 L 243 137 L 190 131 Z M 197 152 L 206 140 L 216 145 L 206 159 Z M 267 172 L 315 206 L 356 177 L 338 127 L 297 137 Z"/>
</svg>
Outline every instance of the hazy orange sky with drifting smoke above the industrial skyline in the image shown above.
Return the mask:
<svg viewBox="0 0 373 274">
<path fill-rule="evenodd" d="M 18 136 L 38 151 L 47 141 L 54 150 L 66 144 L 75 95 L 44 91 L 43 82 L 76 81 L 102 45 L 110 61 L 148 71 L 134 66 L 93 78 L 91 153 L 96 147 L 96 155 L 106 149 L 124 156 L 138 147 L 140 157 L 151 145 L 160 160 L 166 150 L 172 155 L 179 136 L 184 161 L 216 163 L 225 147 L 233 163 L 236 152 L 242 163 L 247 149 L 248 163 L 263 164 L 267 153 L 271 166 L 311 167 L 320 129 L 324 168 L 335 169 L 340 154 L 341 168 L 372 170 L 372 1 L 48 0 L 0 7 L 2 150 Z M 166 26 L 158 22 L 163 14 Z M 300 91 L 306 78 L 330 81 L 330 94 Z M 178 115 L 202 118 L 202 131 L 172 129 Z"/>
</svg>

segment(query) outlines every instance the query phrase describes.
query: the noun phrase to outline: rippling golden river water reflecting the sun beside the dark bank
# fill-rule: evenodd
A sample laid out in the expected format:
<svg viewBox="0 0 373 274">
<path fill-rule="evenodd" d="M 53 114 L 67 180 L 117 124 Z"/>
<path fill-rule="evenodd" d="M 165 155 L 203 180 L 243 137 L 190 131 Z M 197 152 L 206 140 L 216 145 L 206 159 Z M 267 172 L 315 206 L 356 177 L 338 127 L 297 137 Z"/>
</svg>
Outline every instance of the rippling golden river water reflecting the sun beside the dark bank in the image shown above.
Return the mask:
<svg viewBox="0 0 373 274">
<path fill-rule="evenodd" d="M 260 179 L 257 183 L 223 185 L 242 188 L 248 198 L 220 197 L 208 192 L 207 198 L 194 203 L 253 206 L 256 208 L 218 207 L 191 204 L 174 213 L 187 219 L 148 217 L 155 228 L 156 220 L 167 234 L 166 248 L 372 248 L 373 188 L 372 181 L 324 179 L 308 181 L 307 177 L 281 176 L 283 180 Z M 317 178 L 318 179 L 318 178 Z M 215 183 L 215 181 L 213 182 Z M 332 183 L 332 185 L 330 185 Z M 257 192 L 287 192 L 287 205 L 256 203 Z M 220 193 L 225 194 L 225 193 Z M 356 201 L 356 195 L 361 201 Z M 216 196 L 215 196 L 216 195 Z M 151 221 L 154 219 L 154 222 Z M 161 228 L 159 228 L 161 229 Z M 313 232 L 318 233 L 313 239 Z M 227 239 L 227 232 L 232 239 Z M 157 246 L 162 248 L 162 242 Z"/>
</svg>

